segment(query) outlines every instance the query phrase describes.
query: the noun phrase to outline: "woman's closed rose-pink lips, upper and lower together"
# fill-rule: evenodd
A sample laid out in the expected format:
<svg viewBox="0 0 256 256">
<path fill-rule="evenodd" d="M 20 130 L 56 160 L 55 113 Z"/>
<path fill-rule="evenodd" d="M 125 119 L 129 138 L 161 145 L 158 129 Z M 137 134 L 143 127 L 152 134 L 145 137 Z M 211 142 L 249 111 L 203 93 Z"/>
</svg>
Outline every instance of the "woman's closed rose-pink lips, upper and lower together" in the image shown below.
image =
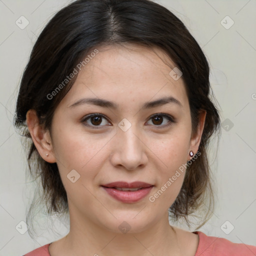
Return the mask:
<svg viewBox="0 0 256 256">
<path fill-rule="evenodd" d="M 135 181 L 127 183 L 124 181 L 116 181 L 101 185 L 104 190 L 116 200 L 126 203 L 132 203 L 144 198 L 151 188 L 152 184 Z"/>
</svg>

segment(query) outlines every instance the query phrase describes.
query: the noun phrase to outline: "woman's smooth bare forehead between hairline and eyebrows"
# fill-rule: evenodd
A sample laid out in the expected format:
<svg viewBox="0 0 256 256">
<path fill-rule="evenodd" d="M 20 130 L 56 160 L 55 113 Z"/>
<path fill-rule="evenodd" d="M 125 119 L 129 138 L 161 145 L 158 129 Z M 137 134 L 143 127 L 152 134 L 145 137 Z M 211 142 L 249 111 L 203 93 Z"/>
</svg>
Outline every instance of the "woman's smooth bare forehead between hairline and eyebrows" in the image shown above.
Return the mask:
<svg viewBox="0 0 256 256">
<path fill-rule="evenodd" d="M 182 77 L 174 80 L 169 74 L 175 64 L 162 50 L 136 44 L 97 50 L 97 54 L 84 56 L 86 64 L 66 95 L 69 101 L 93 96 L 121 103 L 173 96 L 182 105 L 187 103 Z"/>
</svg>

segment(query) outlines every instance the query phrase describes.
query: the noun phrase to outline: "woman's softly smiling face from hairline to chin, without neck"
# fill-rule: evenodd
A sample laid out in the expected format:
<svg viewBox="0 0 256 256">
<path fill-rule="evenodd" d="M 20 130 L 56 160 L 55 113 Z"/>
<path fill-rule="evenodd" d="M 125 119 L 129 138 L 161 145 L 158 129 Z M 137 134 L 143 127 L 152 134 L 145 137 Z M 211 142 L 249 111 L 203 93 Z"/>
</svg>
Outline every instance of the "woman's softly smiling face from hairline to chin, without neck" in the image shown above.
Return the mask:
<svg viewBox="0 0 256 256">
<path fill-rule="evenodd" d="M 71 221 L 138 232 L 166 217 L 183 182 L 180 166 L 190 159 L 190 150 L 197 151 L 202 127 L 191 137 L 182 76 L 169 74 L 175 65 L 162 51 L 154 49 L 172 68 L 143 46 L 98 50 L 57 106 L 52 152 L 43 157 L 57 163 Z M 116 181 L 151 187 L 103 187 Z"/>
</svg>

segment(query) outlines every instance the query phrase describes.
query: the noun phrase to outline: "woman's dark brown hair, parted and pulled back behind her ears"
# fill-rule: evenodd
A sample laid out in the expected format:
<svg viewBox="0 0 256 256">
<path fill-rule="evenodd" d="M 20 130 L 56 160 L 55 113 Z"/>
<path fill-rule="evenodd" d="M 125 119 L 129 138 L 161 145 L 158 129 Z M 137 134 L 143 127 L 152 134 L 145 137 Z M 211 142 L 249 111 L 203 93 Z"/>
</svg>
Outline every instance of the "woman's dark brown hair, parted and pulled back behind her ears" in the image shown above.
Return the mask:
<svg viewBox="0 0 256 256">
<path fill-rule="evenodd" d="M 193 132 L 198 125 L 200 109 L 206 110 L 198 148 L 200 156 L 187 167 L 181 190 L 169 211 L 173 219 L 184 217 L 187 221 L 190 213 L 210 199 L 208 215 L 213 205 L 213 190 L 206 149 L 211 135 L 220 131 L 218 110 L 210 99 L 209 66 L 200 46 L 181 20 L 150 0 L 76 0 L 59 10 L 36 40 L 22 75 L 14 124 L 29 140 L 28 166 L 32 177 L 40 177 L 41 199 L 48 213 L 68 211 L 57 165 L 44 161 L 39 155 L 25 123 L 26 112 L 35 109 L 40 123 L 50 131 L 54 110 L 75 77 L 51 99 L 47 95 L 91 49 L 103 44 L 125 43 L 158 47 L 182 71 Z"/>
</svg>

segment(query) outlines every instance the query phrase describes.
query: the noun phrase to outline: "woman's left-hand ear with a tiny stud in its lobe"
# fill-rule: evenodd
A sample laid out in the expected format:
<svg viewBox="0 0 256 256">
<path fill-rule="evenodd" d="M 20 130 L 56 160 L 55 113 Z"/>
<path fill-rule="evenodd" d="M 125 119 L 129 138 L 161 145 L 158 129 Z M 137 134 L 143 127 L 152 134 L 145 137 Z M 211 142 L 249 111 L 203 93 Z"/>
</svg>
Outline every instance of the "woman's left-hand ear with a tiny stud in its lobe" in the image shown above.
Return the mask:
<svg viewBox="0 0 256 256">
<path fill-rule="evenodd" d="M 56 162 L 49 131 L 44 130 L 42 125 L 39 124 L 39 118 L 34 109 L 29 109 L 27 111 L 26 124 L 34 145 L 41 157 L 47 162 Z"/>
</svg>

